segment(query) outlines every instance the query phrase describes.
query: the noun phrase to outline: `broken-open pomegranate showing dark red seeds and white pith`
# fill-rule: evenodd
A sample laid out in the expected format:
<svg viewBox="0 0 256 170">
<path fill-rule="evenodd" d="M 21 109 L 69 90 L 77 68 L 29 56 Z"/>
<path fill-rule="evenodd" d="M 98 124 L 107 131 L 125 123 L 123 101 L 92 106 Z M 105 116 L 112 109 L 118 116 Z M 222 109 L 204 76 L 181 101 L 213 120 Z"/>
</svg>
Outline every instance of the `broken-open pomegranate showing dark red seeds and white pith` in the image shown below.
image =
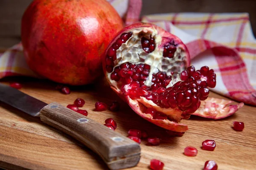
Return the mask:
<svg viewBox="0 0 256 170">
<path fill-rule="evenodd" d="M 105 76 L 116 92 L 141 117 L 177 132 L 188 130 L 179 123 L 196 113 L 207 117 L 209 89 L 216 74 L 207 66 L 195 70 L 186 46 L 173 34 L 150 23 L 123 28 L 103 55 Z M 222 109 L 215 107 L 215 111 Z M 207 111 L 210 109 L 207 108 Z M 228 113 L 229 108 L 225 113 Z M 224 113 L 224 114 L 225 114 Z M 218 116 L 224 116 L 215 114 Z"/>
</svg>

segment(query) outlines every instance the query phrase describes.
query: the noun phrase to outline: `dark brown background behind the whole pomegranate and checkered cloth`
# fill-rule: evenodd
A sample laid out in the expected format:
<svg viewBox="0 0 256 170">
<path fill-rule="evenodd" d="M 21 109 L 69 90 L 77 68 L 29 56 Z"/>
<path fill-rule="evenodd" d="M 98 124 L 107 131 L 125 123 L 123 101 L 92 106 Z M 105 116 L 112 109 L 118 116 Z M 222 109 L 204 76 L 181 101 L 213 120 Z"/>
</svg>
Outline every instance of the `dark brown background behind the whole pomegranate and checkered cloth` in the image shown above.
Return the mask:
<svg viewBox="0 0 256 170">
<path fill-rule="evenodd" d="M 0 49 L 20 42 L 20 19 L 32 0 L 0 0 Z M 256 0 L 143 0 L 141 14 L 248 12 L 256 34 Z"/>
</svg>

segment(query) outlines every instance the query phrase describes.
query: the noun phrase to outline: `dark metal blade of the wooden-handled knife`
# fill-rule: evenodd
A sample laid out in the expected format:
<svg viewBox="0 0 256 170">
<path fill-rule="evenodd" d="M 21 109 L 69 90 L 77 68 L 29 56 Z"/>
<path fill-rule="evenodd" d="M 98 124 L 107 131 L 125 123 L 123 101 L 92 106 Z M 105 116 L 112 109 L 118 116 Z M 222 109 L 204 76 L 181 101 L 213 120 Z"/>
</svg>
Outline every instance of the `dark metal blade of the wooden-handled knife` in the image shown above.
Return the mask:
<svg viewBox="0 0 256 170">
<path fill-rule="evenodd" d="M 22 93 L 21 91 L 10 87 L 9 85 L 3 85 L 0 83 L 0 101 L 14 108 L 19 109 L 31 116 L 38 116 L 39 111 L 48 105 L 32 96 Z"/>
</svg>

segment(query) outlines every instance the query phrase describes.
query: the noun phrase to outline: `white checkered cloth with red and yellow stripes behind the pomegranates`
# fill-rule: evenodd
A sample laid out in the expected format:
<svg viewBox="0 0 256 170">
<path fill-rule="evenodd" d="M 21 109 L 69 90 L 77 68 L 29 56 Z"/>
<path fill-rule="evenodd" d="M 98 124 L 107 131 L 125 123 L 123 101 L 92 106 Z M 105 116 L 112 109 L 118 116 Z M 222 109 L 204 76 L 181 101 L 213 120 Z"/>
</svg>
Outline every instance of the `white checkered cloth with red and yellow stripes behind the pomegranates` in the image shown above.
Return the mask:
<svg viewBox="0 0 256 170">
<path fill-rule="evenodd" d="M 256 106 L 256 40 L 247 13 L 170 13 L 139 18 L 141 0 L 108 1 L 126 24 L 140 19 L 180 37 L 195 68 L 207 65 L 214 69 L 217 85 L 212 91 Z M 0 57 L 0 78 L 17 75 L 38 77 L 26 65 L 20 44 Z"/>
</svg>

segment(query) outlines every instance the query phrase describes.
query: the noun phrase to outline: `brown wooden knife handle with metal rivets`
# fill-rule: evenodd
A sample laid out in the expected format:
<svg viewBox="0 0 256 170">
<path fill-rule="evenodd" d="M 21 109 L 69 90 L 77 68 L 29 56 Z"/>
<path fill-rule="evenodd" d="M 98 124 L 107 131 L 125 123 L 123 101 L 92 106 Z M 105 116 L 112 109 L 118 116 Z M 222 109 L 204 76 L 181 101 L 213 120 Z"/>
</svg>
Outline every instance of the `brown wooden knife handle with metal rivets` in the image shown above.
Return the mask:
<svg viewBox="0 0 256 170">
<path fill-rule="evenodd" d="M 112 170 L 134 167 L 140 160 L 140 144 L 58 103 L 42 108 L 39 116 L 98 153 Z"/>
</svg>

